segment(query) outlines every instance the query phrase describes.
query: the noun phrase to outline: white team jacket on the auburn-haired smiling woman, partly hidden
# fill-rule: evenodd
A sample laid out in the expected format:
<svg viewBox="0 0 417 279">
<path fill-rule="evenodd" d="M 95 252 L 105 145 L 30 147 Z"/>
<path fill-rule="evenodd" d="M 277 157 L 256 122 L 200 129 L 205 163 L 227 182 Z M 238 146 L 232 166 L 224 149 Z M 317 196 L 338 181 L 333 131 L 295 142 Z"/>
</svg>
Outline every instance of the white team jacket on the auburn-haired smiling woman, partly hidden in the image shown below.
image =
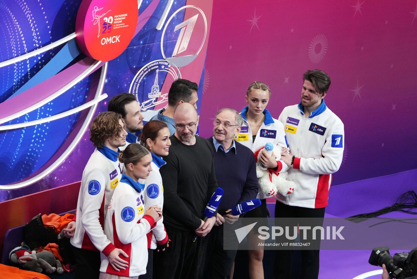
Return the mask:
<svg viewBox="0 0 417 279">
<path fill-rule="evenodd" d="M 139 179 L 139 183 L 146 182 L 145 194 L 143 194 L 146 206 L 158 205 L 161 206 L 162 209 L 163 185 L 161 173 L 159 173 L 159 168 L 165 165 L 166 162 L 163 161 L 161 157 L 158 157 L 153 153 L 151 153 L 151 155 L 152 171 L 146 180 Z M 161 220 L 156 222 L 155 228 L 153 228 L 152 231 L 150 231 L 146 236 L 148 238 L 148 248 L 150 249 L 156 249 L 157 242 L 159 244 L 165 244 L 166 241 L 168 241 L 168 235 L 166 234 L 165 227 L 163 226 L 163 217 Z"/>
</svg>

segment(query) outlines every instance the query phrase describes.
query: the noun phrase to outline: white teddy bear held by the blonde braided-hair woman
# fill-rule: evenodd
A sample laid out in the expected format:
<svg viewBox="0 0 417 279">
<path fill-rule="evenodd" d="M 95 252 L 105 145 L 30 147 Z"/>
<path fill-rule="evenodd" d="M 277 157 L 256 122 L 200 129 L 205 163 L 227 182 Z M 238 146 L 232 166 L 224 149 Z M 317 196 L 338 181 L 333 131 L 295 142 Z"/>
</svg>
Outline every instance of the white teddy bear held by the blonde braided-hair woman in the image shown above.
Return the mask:
<svg viewBox="0 0 417 279">
<path fill-rule="evenodd" d="M 258 183 L 262 193 L 264 193 L 266 197 L 274 196 L 276 193 L 279 193 L 282 196 L 292 194 L 296 189 L 296 185 L 293 181 L 286 180 L 288 178 L 288 173 L 286 171 L 275 173 L 270 169 L 261 168 L 259 158 L 261 156 L 262 149 L 264 149 L 264 147 L 254 153 L 256 161 L 256 176 L 258 177 Z M 281 147 L 274 146 L 274 154 L 276 156 L 276 160 L 278 161 L 281 158 Z"/>
</svg>

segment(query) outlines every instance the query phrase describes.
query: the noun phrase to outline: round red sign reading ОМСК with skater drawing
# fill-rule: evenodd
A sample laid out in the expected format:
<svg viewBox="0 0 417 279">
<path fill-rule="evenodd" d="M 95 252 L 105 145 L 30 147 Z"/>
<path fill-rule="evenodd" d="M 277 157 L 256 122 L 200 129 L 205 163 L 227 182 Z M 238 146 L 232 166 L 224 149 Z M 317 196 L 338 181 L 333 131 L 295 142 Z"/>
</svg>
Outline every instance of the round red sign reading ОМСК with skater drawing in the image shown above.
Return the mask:
<svg viewBox="0 0 417 279">
<path fill-rule="evenodd" d="M 112 60 L 131 42 L 137 22 L 136 0 L 83 0 L 75 21 L 78 46 L 91 58 Z"/>
</svg>

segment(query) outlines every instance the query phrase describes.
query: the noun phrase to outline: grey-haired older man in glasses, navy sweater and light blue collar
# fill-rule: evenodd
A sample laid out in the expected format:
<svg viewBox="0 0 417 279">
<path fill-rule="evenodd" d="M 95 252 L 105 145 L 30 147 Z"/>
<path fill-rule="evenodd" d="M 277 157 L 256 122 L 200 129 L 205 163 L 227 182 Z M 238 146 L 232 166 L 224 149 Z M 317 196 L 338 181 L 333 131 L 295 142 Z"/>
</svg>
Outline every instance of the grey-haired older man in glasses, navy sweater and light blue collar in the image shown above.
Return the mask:
<svg viewBox="0 0 417 279">
<path fill-rule="evenodd" d="M 222 215 L 236 204 L 255 199 L 258 194 L 254 154 L 234 140 L 242 123 L 243 118 L 237 111 L 223 108 L 216 113 L 216 120 L 213 121 L 213 137 L 208 138 L 214 150 L 217 183 L 224 189 L 224 195 L 216 224 L 204 239 L 207 251 L 200 271 L 204 278 L 230 278 L 236 250 L 223 250 L 223 223 L 234 223 L 239 216 L 227 214 L 223 218 Z"/>
</svg>

